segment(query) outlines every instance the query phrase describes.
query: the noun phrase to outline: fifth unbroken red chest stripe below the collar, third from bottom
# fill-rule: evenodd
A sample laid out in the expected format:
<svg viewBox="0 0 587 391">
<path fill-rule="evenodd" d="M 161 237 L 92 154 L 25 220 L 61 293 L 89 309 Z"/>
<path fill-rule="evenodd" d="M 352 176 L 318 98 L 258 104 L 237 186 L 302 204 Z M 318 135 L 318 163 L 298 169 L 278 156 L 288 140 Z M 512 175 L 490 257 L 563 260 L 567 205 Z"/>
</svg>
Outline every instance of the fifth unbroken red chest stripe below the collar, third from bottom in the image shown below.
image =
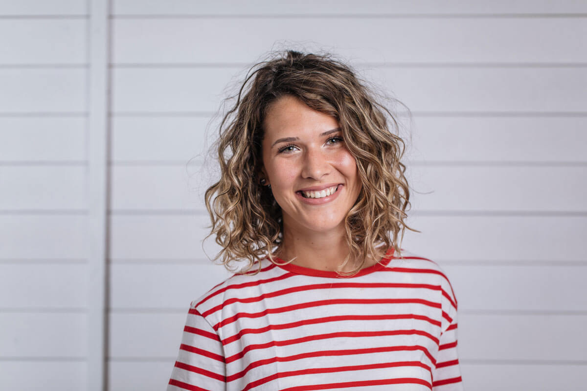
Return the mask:
<svg viewBox="0 0 587 391">
<path fill-rule="evenodd" d="M 380 348 L 363 348 L 363 349 L 346 349 L 346 350 L 333 350 L 333 351 L 318 351 L 318 352 L 306 352 L 306 353 L 298 353 L 292 356 L 285 356 L 285 357 L 271 357 L 266 358 L 258 361 L 254 361 L 247 365 L 247 368 L 241 370 L 241 372 L 234 373 L 227 377 L 227 382 L 231 382 L 232 380 L 242 378 L 245 376 L 247 372 L 251 369 L 257 368 L 259 366 L 271 364 L 274 362 L 288 362 L 288 361 L 296 361 L 305 358 L 312 358 L 312 357 L 324 357 L 324 356 L 350 356 L 350 355 L 360 355 L 360 354 L 372 354 L 372 353 L 384 353 L 384 352 L 399 352 L 399 351 L 421 351 L 426 355 L 426 357 L 430 360 L 430 362 L 435 365 L 436 359 L 430 354 L 428 349 L 424 346 L 383 346 Z"/>
</svg>

